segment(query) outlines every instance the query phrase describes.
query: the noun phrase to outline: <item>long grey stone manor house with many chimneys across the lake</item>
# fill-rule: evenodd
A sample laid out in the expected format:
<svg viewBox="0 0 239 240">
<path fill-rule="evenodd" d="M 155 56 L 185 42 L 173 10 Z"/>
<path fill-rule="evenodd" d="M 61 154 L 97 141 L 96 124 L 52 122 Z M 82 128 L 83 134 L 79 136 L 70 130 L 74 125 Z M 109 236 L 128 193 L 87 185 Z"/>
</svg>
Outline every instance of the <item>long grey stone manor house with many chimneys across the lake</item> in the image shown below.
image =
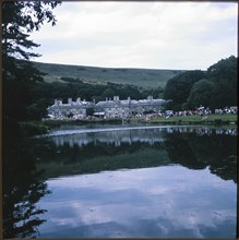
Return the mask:
<svg viewBox="0 0 239 240">
<path fill-rule="evenodd" d="M 85 118 L 87 116 L 87 109 L 92 109 L 95 117 L 101 117 L 106 119 L 110 118 L 130 118 L 136 115 L 146 113 L 159 113 L 166 100 L 153 99 L 148 96 L 147 99 L 134 100 L 128 97 L 128 99 L 120 100 L 119 96 L 115 96 L 113 99 L 98 101 L 97 104 L 77 98 L 76 101 L 72 101 L 72 98 L 68 99 L 68 104 L 62 104 L 62 100 L 55 100 L 52 106 L 47 108 L 48 116 L 52 119 L 61 119 L 72 117 L 74 119 Z"/>
</svg>

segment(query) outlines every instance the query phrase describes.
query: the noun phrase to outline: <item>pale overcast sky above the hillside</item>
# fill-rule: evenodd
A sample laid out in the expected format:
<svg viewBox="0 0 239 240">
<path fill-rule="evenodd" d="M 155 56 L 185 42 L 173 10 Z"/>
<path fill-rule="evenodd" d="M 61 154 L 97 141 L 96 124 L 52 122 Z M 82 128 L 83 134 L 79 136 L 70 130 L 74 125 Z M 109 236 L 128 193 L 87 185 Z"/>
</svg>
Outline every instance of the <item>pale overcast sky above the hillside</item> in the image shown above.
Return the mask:
<svg viewBox="0 0 239 240">
<path fill-rule="evenodd" d="M 35 61 L 206 70 L 237 56 L 236 2 L 62 2 L 57 25 L 31 35 Z"/>
</svg>

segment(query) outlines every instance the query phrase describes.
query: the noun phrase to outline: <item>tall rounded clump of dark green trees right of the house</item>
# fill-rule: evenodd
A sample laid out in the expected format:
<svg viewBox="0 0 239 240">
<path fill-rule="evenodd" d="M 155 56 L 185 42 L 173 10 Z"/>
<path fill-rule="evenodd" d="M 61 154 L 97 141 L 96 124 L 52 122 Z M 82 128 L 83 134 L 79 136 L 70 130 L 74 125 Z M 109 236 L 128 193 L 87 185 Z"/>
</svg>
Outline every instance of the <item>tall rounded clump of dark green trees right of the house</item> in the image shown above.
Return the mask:
<svg viewBox="0 0 239 240">
<path fill-rule="evenodd" d="M 167 108 L 178 111 L 200 105 L 211 109 L 237 106 L 237 61 L 230 56 L 207 71 L 188 71 L 170 79 L 164 93 L 171 99 Z"/>
</svg>

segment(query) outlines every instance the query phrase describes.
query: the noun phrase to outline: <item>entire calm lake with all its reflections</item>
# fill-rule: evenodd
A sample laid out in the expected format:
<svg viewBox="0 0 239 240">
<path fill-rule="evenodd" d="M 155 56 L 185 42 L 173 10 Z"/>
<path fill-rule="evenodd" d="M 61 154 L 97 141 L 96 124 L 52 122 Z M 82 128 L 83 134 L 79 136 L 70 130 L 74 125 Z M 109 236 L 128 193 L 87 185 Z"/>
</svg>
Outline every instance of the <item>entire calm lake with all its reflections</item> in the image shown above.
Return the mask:
<svg viewBox="0 0 239 240">
<path fill-rule="evenodd" d="M 236 238 L 236 127 L 64 125 L 11 159 L 8 237 Z"/>
</svg>

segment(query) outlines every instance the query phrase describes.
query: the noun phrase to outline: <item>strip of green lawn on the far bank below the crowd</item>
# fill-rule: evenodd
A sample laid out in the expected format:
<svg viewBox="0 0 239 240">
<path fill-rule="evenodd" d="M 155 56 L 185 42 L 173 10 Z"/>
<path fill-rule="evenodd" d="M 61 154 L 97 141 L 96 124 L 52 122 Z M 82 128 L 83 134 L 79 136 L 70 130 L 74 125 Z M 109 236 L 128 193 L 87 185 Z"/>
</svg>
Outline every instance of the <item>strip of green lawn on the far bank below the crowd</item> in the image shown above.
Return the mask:
<svg viewBox="0 0 239 240">
<path fill-rule="evenodd" d="M 147 121 L 148 122 L 148 121 Z M 214 123 L 214 124 L 225 124 L 225 123 L 236 123 L 237 115 L 210 115 L 207 117 L 201 116 L 174 116 L 170 118 L 160 117 L 157 119 L 151 119 L 152 123 Z"/>
</svg>

